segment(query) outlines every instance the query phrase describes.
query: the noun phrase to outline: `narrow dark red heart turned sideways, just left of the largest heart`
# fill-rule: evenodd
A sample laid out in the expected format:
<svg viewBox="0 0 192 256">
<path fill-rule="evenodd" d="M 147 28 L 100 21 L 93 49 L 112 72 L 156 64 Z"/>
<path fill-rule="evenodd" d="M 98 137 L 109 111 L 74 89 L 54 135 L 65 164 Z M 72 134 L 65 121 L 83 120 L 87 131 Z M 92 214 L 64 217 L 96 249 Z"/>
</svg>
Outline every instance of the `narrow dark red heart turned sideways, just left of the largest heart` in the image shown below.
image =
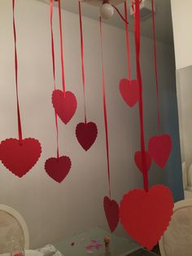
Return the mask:
<svg viewBox="0 0 192 256">
<path fill-rule="evenodd" d="M 119 205 L 115 200 L 111 200 L 108 196 L 104 197 L 103 206 L 107 223 L 111 232 L 114 232 L 119 223 Z"/>
</svg>

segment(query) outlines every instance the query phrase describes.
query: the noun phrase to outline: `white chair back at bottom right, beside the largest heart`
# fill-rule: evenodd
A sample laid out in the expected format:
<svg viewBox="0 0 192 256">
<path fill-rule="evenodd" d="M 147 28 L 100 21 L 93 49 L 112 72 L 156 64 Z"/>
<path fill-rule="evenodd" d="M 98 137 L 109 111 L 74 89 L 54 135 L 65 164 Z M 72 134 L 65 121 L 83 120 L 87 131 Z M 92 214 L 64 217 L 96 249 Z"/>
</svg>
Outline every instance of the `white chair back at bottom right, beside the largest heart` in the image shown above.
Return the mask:
<svg viewBox="0 0 192 256">
<path fill-rule="evenodd" d="M 192 199 L 174 205 L 172 220 L 159 241 L 162 256 L 192 255 Z"/>
</svg>

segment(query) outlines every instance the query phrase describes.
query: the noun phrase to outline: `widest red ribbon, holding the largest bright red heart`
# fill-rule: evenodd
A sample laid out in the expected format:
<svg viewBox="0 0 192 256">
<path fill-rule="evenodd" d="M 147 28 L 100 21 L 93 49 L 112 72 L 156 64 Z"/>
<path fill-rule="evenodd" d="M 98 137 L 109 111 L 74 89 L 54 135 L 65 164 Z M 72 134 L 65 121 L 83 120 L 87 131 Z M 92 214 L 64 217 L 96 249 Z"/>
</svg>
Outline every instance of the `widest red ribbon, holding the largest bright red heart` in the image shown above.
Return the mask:
<svg viewBox="0 0 192 256">
<path fill-rule="evenodd" d="M 134 25 L 135 25 L 135 51 L 136 51 L 136 64 L 137 64 L 137 81 L 139 82 L 139 117 L 140 117 L 140 143 L 141 143 L 141 152 L 142 152 L 142 166 L 143 166 L 143 185 L 146 192 L 149 190 L 148 183 L 148 173 L 146 169 L 146 148 L 145 148 L 145 135 L 144 135 L 144 126 L 143 126 L 143 104 L 142 104 L 142 73 L 140 66 L 140 2 L 135 0 L 135 15 L 134 15 Z"/>
</svg>

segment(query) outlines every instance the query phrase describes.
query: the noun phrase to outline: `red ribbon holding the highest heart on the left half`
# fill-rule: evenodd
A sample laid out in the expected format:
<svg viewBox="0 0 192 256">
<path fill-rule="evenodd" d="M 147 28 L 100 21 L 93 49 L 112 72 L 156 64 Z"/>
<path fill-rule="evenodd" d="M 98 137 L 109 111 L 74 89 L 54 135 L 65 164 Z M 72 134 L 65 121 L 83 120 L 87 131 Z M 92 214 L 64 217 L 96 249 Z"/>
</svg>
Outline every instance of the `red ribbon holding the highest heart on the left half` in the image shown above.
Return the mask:
<svg viewBox="0 0 192 256">
<path fill-rule="evenodd" d="M 60 32 L 60 51 L 61 51 L 61 71 L 62 71 L 62 86 L 65 96 L 65 77 L 64 77 L 64 58 L 63 58 L 63 33 L 62 33 L 62 17 L 61 17 L 61 1 L 59 0 L 59 32 Z"/>
</svg>

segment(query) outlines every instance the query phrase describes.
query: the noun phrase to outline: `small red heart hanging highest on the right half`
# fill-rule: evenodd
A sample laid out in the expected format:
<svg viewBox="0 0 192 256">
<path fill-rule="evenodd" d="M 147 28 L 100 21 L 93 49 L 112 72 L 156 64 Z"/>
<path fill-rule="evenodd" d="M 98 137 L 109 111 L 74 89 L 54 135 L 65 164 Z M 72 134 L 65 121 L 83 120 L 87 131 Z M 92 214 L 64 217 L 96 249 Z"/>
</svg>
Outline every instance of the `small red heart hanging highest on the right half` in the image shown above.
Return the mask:
<svg viewBox="0 0 192 256">
<path fill-rule="evenodd" d="M 137 80 L 120 80 L 120 94 L 129 107 L 133 107 L 139 100 L 139 84 Z"/>
</svg>

